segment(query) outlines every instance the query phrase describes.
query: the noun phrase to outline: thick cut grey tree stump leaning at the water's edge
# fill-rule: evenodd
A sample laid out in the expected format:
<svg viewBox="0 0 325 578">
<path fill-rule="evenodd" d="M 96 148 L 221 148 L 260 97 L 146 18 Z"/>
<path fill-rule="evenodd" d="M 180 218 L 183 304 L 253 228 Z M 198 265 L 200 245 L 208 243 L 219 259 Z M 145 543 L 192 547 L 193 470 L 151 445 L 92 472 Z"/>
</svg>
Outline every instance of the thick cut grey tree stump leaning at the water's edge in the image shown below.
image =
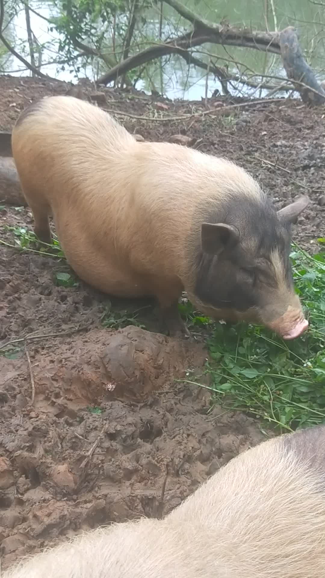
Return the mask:
<svg viewBox="0 0 325 578">
<path fill-rule="evenodd" d="M 311 67 L 306 63 L 298 43 L 296 29 L 289 26 L 280 32 L 280 50 L 287 77 L 293 81 L 302 102 L 323 104 L 325 91 L 318 83 Z M 303 83 L 304 86 L 301 85 Z"/>
</svg>

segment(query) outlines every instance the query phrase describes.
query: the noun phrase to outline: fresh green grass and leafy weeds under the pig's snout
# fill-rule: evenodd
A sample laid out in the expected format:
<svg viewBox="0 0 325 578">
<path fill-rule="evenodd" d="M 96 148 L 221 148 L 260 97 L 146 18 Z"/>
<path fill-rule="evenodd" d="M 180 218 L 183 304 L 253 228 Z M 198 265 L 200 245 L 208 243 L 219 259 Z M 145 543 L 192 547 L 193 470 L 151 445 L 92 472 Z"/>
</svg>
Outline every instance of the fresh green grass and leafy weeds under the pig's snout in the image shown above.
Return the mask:
<svg viewBox="0 0 325 578">
<path fill-rule="evenodd" d="M 46 245 L 24 227 L 7 229 L 14 241 L 1 240 L 3 244 L 65 259 L 57 238 Z M 325 244 L 325 239 L 319 242 Z M 214 323 L 195 312 L 186 298 L 179 304 L 190 330 L 209 335 L 206 373 L 212 405 L 243 410 L 281 431 L 325 423 L 325 252 L 311 257 L 295 246 L 291 260 L 296 291 L 309 320 L 308 332 L 293 342 L 284 342 L 263 327 Z M 65 287 L 76 283 L 71 273 L 54 276 L 54 282 Z M 116 329 L 140 325 L 136 314 L 112 311 L 109 306 L 102 323 Z"/>
</svg>

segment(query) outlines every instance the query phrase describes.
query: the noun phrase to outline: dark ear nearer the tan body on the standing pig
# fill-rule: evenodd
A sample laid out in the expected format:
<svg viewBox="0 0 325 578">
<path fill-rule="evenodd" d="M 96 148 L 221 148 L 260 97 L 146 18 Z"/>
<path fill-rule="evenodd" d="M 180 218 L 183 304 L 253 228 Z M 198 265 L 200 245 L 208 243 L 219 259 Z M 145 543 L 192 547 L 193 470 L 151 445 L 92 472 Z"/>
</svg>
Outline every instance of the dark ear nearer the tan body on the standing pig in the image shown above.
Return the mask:
<svg viewBox="0 0 325 578">
<path fill-rule="evenodd" d="M 201 246 L 204 253 L 218 255 L 224 249 L 232 249 L 239 241 L 239 231 L 224 223 L 202 223 Z"/>
</svg>

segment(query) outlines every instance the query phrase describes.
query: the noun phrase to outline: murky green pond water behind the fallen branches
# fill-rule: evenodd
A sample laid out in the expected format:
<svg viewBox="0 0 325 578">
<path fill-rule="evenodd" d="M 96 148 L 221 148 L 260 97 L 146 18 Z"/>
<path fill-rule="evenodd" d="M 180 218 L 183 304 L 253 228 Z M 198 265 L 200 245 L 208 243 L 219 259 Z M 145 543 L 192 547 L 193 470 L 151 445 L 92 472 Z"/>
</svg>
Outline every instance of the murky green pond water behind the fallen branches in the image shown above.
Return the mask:
<svg viewBox="0 0 325 578">
<path fill-rule="evenodd" d="M 221 19 L 226 19 L 231 25 L 237 25 L 252 29 L 265 31 L 268 29 L 274 31 L 281 30 L 287 25 L 293 25 L 298 29 L 300 34 L 300 43 L 305 51 L 306 60 L 312 66 L 319 76 L 324 79 L 323 62 L 325 61 L 325 9 L 322 6 L 315 5 L 308 0 L 248 0 L 239 2 L 238 0 L 185 0 L 186 6 L 199 14 L 206 20 L 220 23 Z M 32 1 L 31 8 L 45 18 L 49 18 L 51 12 L 50 4 Z M 265 18 L 265 7 L 267 6 L 267 20 Z M 53 10 L 53 9 L 52 9 Z M 158 40 L 159 29 L 159 10 L 160 4 L 150 10 L 146 10 L 143 16 L 146 17 L 146 23 L 141 24 L 136 34 L 143 43 L 147 38 Z M 175 37 L 182 34 L 184 30 L 189 31 L 191 24 L 173 10 L 170 6 L 163 5 L 163 27 L 162 38 Z M 31 12 L 31 28 L 38 42 L 44 46 L 43 62 L 51 61 L 57 56 L 57 46 L 59 36 L 56 31 L 49 31 L 49 24 L 41 17 Z M 123 17 L 122 17 L 123 19 Z M 27 31 L 25 24 L 24 10 L 14 18 L 12 25 L 6 31 L 10 40 L 10 35 L 16 36 L 17 50 L 22 53 L 21 45 L 17 46 L 17 41 L 23 43 L 25 54 L 28 54 Z M 109 43 L 108 38 L 108 43 Z M 142 45 L 142 49 L 143 49 Z M 245 74 L 257 83 L 265 73 L 286 77 L 282 68 L 282 61 L 277 55 L 265 55 L 264 52 L 253 49 L 234 48 L 232 46 L 222 47 L 220 45 L 203 45 L 197 47 L 194 53 L 195 57 L 204 62 L 211 59 L 216 65 L 228 65 L 228 73 L 235 73 L 238 76 Z M 28 58 L 28 57 L 27 57 Z M 226 62 L 223 60 L 226 58 Z M 2 58 L 3 62 L 3 58 Z M 235 62 L 240 64 L 235 64 Z M 79 73 L 71 72 L 70 67 L 65 65 L 61 69 L 56 64 L 43 66 L 42 72 L 49 76 L 56 77 L 60 80 L 77 81 L 77 77 L 87 76 L 90 79 L 98 77 L 98 63 L 94 67 L 87 66 Z M 24 65 L 15 57 L 7 57 L 5 72 L 13 75 L 28 75 Z M 101 71 L 104 72 L 104 71 Z M 77 76 L 77 77 L 76 77 Z M 100 76 L 100 71 L 99 71 Z M 268 84 L 276 82 L 268 80 Z M 278 81 L 279 82 L 279 81 Z M 200 100 L 205 95 L 206 72 L 193 65 L 188 66 L 179 55 L 164 57 L 161 60 L 154 61 L 147 66 L 147 71 L 142 79 L 136 83 L 136 88 L 151 92 L 156 88 L 167 97 L 184 98 L 190 100 Z M 215 79 L 210 73 L 208 76 L 208 97 L 216 90 L 221 91 L 219 80 Z M 232 94 L 245 94 L 254 97 L 267 94 L 268 90 L 260 91 L 260 88 L 249 88 L 241 83 L 234 82 L 228 85 Z M 280 92 L 278 94 L 281 94 Z M 282 93 L 283 94 L 283 93 Z"/>
</svg>

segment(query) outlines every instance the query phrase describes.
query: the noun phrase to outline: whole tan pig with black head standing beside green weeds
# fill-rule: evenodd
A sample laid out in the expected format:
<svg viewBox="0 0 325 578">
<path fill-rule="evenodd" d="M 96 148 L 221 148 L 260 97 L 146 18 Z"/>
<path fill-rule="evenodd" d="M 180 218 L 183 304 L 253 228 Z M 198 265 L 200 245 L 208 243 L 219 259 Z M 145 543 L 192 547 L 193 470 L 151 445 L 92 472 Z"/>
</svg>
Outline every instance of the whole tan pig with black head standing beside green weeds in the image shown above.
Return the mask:
<svg viewBox="0 0 325 578">
<path fill-rule="evenodd" d="M 308 326 L 294 292 L 290 225 L 308 197 L 276 212 L 242 168 L 179 144 L 136 142 L 104 110 L 46 97 L 19 117 L 12 150 L 35 233 L 49 214 L 77 275 L 117 297 L 157 299 L 170 334 L 186 290 L 215 319 Z"/>
</svg>

